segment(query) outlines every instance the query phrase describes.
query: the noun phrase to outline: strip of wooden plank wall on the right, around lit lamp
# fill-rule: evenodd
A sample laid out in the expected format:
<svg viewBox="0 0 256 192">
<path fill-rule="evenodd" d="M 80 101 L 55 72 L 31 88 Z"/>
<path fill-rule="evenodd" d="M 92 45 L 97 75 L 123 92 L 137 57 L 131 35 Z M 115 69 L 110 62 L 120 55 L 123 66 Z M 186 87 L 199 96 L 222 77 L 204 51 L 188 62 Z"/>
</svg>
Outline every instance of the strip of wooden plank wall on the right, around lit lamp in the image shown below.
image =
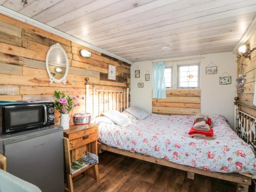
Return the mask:
<svg viewBox="0 0 256 192">
<path fill-rule="evenodd" d="M 254 31 L 253 35 L 249 38 L 247 41 L 247 44 L 250 45 L 250 48 L 256 47 L 256 30 Z M 252 104 L 253 102 L 253 96 L 254 96 L 254 86 L 255 86 L 255 75 L 256 75 L 256 51 L 253 51 L 251 53 L 251 59 L 241 57 L 238 59 L 238 75 L 241 73 L 241 63 L 246 64 L 244 67 L 245 73 L 246 73 L 246 83 L 244 86 L 244 93 L 239 94 L 239 102 L 254 106 Z M 241 110 L 256 117 L 255 110 L 246 108 L 244 106 L 241 106 Z"/>
</svg>

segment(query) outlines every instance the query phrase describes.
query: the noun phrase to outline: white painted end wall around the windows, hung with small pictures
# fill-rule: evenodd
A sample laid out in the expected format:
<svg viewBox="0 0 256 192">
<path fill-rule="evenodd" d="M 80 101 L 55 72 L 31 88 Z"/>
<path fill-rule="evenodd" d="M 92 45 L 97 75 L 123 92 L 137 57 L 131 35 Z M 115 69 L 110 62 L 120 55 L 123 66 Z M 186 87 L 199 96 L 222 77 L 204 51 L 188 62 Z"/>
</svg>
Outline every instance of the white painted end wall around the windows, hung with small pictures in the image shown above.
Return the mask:
<svg viewBox="0 0 256 192">
<path fill-rule="evenodd" d="M 196 56 L 183 58 L 167 58 L 158 59 L 157 61 L 189 59 Z M 228 123 L 233 127 L 233 109 L 234 97 L 237 96 L 236 78 L 237 78 L 237 61 L 236 55 L 231 52 L 214 53 L 202 55 L 200 63 L 200 89 L 201 89 L 201 112 L 207 115 L 222 114 L 228 120 Z M 135 62 L 131 68 L 131 105 L 137 105 L 145 109 L 147 112 L 152 112 L 152 62 L 142 61 Z M 206 75 L 205 68 L 213 62 L 218 67 L 218 73 Z M 140 78 L 134 77 L 136 67 L 139 67 Z M 151 74 L 151 81 L 145 81 L 145 73 L 148 71 Z M 227 72 L 231 75 L 231 84 L 219 84 L 219 77 Z M 144 88 L 138 88 L 137 83 L 142 80 Z"/>
</svg>

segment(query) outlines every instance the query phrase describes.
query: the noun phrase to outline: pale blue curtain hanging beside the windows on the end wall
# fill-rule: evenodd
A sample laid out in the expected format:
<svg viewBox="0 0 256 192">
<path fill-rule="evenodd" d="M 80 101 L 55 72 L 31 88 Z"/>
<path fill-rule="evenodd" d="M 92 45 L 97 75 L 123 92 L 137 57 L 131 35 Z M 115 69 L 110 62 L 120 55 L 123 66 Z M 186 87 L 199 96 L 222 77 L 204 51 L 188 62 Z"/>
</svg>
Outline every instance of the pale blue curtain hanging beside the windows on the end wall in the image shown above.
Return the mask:
<svg viewBox="0 0 256 192">
<path fill-rule="evenodd" d="M 164 69 L 164 62 L 153 63 L 153 98 L 156 99 L 166 98 Z"/>
</svg>

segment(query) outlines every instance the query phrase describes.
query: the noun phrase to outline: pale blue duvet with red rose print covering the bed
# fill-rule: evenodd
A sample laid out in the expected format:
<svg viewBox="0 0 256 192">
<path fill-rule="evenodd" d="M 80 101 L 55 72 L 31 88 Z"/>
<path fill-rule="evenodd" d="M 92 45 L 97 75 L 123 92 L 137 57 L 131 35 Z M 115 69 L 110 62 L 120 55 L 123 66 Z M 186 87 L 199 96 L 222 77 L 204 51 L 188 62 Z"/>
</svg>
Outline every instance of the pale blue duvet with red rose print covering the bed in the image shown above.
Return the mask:
<svg viewBox="0 0 256 192">
<path fill-rule="evenodd" d="M 113 147 L 163 158 L 212 172 L 256 175 L 256 158 L 250 145 L 234 133 L 221 115 L 212 115 L 215 140 L 193 139 L 188 131 L 192 115 L 151 114 L 120 127 L 99 124 L 99 140 Z"/>
</svg>

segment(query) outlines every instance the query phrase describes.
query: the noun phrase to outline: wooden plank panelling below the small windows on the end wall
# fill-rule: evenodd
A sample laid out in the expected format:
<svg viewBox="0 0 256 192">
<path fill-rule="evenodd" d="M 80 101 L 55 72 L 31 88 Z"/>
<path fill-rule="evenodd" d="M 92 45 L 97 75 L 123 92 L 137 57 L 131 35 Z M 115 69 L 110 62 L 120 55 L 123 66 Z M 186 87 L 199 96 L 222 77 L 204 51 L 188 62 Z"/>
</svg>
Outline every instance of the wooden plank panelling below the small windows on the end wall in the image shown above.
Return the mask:
<svg viewBox="0 0 256 192">
<path fill-rule="evenodd" d="M 166 90 L 165 99 L 153 99 L 152 111 L 164 115 L 195 115 L 201 108 L 201 90 Z"/>
</svg>

